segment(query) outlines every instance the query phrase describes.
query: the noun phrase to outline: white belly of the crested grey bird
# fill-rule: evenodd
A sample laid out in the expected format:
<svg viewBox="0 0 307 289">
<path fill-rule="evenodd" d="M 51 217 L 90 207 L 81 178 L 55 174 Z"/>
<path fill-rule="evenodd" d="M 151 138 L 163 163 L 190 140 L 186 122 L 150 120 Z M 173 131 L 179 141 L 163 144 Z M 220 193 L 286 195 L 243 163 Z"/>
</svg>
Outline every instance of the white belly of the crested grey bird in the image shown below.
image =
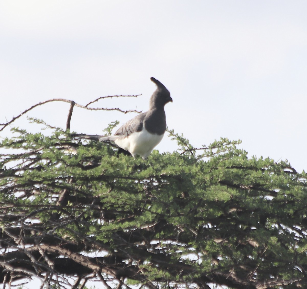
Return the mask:
<svg viewBox="0 0 307 289">
<path fill-rule="evenodd" d="M 114 142 L 122 149 L 128 150 L 133 156 L 138 154 L 145 159 L 150 155 L 153 148 L 161 142 L 163 135 L 152 135 L 143 129 L 128 137 L 118 138 Z"/>
</svg>

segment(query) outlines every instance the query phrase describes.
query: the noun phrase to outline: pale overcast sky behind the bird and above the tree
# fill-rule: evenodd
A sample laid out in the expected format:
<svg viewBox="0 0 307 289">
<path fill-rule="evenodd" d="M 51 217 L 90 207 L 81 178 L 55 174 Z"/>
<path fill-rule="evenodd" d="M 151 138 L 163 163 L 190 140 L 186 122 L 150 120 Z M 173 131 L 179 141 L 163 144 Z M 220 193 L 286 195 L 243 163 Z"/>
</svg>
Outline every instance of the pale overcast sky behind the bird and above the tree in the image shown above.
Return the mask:
<svg viewBox="0 0 307 289">
<path fill-rule="evenodd" d="M 307 168 L 307 2 L 1 1 L 0 123 L 66 98 L 146 111 L 153 76 L 171 92 L 169 128 L 200 147 L 242 139 L 249 156 Z M 97 106 L 97 103 L 93 107 Z M 65 127 L 69 104 L 29 116 Z M 134 114 L 75 108 L 71 129 L 101 134 Z M 37 131 L 26 117 L 16 126 Z M 4 135 L 2 133 L 1 135 Z M 162 151 L 177 147 L 166 137 Z"/>
</svg>

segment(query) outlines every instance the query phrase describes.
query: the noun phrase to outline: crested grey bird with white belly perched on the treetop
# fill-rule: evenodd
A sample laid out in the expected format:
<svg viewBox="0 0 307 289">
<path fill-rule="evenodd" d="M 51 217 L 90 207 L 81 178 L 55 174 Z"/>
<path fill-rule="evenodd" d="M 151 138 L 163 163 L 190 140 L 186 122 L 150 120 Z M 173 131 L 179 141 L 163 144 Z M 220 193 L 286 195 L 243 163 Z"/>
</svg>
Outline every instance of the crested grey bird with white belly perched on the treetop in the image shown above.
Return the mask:
<svg viewBox="0 0 307 289">
<path fill-rule="evenodd" d="M 121 149 L 128 151 L 135 158 L 137 155 L 144 160 L 153 148 L 161 142 L 166 130 L 164 106 L 173 102 L 167 88 L 154 77 L 150 78 L 157 85 L 149 101 L 149 109 L 127 121 L 111 136 L 80 135 L 99 142 L 114 142 Z"/>
</svg>

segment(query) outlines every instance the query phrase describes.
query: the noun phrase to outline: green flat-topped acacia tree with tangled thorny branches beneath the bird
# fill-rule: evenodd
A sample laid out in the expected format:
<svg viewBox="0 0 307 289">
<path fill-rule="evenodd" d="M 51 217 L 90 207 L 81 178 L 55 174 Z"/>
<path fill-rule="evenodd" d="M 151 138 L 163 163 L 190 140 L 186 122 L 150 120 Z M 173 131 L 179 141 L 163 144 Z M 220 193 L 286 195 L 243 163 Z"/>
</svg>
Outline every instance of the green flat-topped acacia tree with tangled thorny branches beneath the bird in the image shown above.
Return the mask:
<svg viewBox="0 0 307 289">
<path fill-rule="evenodd" d="M 0 144 L 4 286 L 307 287 L 306 174 L 288 162 L 174 131 L 178 151 L 145 161 L 67 129 L 13 131 Z"/>
</svg>

